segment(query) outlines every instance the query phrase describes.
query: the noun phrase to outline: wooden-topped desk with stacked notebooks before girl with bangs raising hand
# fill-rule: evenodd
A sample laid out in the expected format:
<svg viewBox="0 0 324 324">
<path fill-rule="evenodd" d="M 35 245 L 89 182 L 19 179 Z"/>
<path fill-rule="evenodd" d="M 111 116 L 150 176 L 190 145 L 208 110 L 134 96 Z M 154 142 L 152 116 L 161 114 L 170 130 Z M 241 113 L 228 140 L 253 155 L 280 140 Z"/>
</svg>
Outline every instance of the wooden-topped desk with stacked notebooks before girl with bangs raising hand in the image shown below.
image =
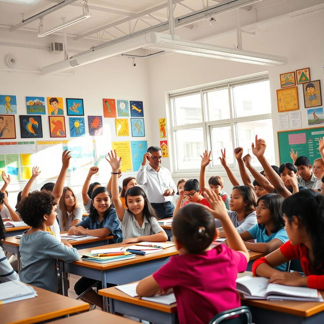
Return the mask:
<svg viewBox="0 0 324 324">
<path fill-rule="evenodd" d="M 109 248 L 128 247 L 134 244 L 112 244 Z M 99 249 L 107 248 L 107 246 L 99 247 Z M 80 250 L 79 253 L 89 253 L 91 249 Z M 116 285 L 129 284 L 129 282 L 143 279 L 152 274 L 163 266 L 169 257 L 178 254 L 175 247 L 164 249 L 161 252 L 148 254 L 145 256 L 136 255 L 134 259 L 116 261 L 106 264 L 99 264 L 85 260 L 78 260 L 73 263 L 60 261 L 60 271 L 73 273 L 87 278 L 100 280 L 102 287 L 107 287 L 107 282 Z M 109 281 L 108 281 L 109 280 Z M 64 286 L 64 282 L 62 282 Z M 107 299 L 104 298 L 104 310 L 108 310 Z"/>
</svg>

